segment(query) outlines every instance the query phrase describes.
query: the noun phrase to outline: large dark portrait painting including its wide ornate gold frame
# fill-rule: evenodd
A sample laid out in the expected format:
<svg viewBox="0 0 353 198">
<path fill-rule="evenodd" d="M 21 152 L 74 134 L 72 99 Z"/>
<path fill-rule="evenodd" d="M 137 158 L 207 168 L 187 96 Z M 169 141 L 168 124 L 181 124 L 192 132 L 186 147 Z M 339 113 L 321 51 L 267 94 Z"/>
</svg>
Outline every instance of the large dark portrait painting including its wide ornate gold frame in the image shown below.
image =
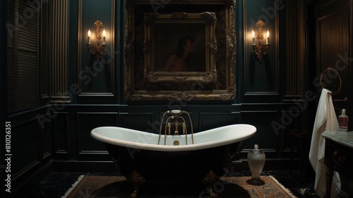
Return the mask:
<svg viewBox="0 0 353 198">
<path fill-rule="evenodd" d="M 152 2 L 126 0 L 126 101 L 234 100 L 235 1 Z"/>
</svg>

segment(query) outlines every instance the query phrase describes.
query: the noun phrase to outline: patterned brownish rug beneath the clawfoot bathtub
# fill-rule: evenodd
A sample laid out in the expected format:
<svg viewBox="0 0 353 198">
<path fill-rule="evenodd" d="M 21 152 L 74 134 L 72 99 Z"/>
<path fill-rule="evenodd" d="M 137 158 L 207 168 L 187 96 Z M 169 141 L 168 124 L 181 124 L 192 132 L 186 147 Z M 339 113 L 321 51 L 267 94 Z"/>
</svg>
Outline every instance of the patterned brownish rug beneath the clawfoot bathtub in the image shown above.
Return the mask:
<svg viewBox="0 0 353 198">
<path fill-rule="evenodd" d="M 220 177 L 213 185 L 216 197 L 295 197 L 272 176 L 263 176 L 264 185 L 254 186 L 246 183 L 251 177 Z M 133 192 L 131 182 L 125 177 L 80 176 L 64 197 L 130 197 Z M 202 182 L 145 182 L 138 190 L 140 198 L 191 198 L 209 197 Z"/>
</svg>

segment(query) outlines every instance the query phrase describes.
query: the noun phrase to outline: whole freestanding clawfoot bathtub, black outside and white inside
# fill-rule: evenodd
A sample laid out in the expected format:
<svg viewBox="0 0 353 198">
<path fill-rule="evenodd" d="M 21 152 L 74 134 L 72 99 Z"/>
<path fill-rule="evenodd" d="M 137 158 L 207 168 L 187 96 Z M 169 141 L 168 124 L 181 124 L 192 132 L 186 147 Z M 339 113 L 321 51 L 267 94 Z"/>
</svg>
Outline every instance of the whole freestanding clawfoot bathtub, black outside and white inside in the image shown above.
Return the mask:
<svg viewBox="0 0 353 198">
<path fill-rule="evenodd" d="M 232 124 L 163 138 L 133 129 L 98 127 L 91 136 L 104 142 L 119 173 L 131 180 L 201 182 L 227 173 L 241 142 L 255 133 L 252 125 Z"/>
</svg>

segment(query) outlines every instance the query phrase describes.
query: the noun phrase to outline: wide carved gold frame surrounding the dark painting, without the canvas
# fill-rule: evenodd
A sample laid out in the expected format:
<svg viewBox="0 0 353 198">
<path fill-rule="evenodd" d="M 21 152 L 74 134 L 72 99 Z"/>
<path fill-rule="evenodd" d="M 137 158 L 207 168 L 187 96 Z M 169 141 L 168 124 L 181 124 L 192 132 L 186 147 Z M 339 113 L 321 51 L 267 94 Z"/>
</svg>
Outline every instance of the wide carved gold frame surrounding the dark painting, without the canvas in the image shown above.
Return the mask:
<svg viewBox="0 0 353 198">
<path fill-rule="evenodd" d="M 234 100 L 237 48 L 235 0 L 171 0 L 158 11 L 153 9 L 150 0 L 125 2 L 126 101 Z M 208 54 L 205 54 L 205 71 L 155 71 L 151 24 L 162 19 L 185 23 L 188 20 L 203 21 L 206 24 L 205 51 Z"/>
</svg>

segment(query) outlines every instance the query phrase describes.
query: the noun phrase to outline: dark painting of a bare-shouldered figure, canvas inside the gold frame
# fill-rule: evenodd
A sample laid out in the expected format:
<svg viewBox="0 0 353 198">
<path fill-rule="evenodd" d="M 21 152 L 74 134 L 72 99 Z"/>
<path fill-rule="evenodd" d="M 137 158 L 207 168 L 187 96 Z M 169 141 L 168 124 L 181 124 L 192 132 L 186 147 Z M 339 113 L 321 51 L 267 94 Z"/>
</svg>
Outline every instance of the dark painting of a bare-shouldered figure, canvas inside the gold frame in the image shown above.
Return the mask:
<svg viewBox="0 0 353 198">
<path fill-rule="evenodd" d="M 154 32 L 154 71 L 206 71 L 204 23 L 156 23 Z"/>
</svg>

